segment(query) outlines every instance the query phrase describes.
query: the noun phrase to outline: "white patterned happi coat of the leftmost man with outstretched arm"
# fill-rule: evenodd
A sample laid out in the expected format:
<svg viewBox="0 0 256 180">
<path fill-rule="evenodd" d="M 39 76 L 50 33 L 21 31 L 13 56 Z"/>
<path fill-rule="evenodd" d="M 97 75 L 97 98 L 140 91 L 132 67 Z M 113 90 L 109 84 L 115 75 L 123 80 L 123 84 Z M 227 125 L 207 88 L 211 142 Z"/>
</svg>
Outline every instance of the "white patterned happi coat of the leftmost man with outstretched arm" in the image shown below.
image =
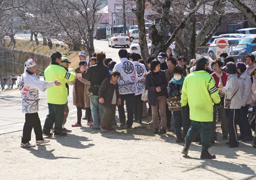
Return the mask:
<svg viewBox="0 0 256 180">
<path fill-rule="evenodd" d="M 38 111 L 39 91 L 55 86 L 54 82 L 40 81 L 35 74 L 25 71 L 19 78 L 18 87 L 22 97 L 22 112 L 36 113 Z"/>
</svg>

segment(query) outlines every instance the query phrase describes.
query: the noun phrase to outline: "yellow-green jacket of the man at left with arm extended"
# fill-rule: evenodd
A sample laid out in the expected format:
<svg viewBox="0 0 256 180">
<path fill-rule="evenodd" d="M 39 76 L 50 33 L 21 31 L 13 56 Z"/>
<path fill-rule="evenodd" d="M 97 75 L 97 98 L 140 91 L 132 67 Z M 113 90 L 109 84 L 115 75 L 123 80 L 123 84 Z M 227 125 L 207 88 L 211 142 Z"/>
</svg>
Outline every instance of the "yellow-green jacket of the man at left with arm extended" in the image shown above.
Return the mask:
<svg viewBox="0 0 256 180">
<path fill-rule="evenodd" d="M 70 73 L 60 65 L 50 64 L 45 70 L 46 81 L 61 82 L 61 86 L 54 86 L 47 89 L 47 102 L 50 104 L 64 105 L 68 101 L 68 89 L 66 80 L 73 81 L 76 78 L 75 73 Z"/>
</svg>

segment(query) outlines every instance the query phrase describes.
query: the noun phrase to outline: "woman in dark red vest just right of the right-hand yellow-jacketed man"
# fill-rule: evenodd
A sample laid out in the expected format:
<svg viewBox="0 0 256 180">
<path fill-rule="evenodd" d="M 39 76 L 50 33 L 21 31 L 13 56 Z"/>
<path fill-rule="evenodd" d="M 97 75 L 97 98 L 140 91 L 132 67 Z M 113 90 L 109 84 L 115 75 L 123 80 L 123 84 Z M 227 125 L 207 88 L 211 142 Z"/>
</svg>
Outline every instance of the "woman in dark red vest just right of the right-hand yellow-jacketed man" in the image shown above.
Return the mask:
<svg viewBox="0 0 256 180">
<path fill-rule="evenodd" d="M 211 63 L 211 68 L 214 70 L 214 73 L 210 74 L 212 77 L 214 77 L 215 80 L 215 86 L 218 88 L 219 83 L 223 86 L 226 86 L 227 83 L 227 75 L 226 72 L 221 71 L 221 66 L 223 66 L 222 62 L 219 59 L 216 59 L 212 61 Z M 224 93 L 220 93 L 220 98 L 221 98 L 221 108 L 215 108 L 214 107 L 214 121 L 212 122 L 212 131 L 211 131 L 211 143 L 214 143 L 215 140 L 217 140 L 217 133 L 216 133 L 216 118 L 217 118 L 217 110 L 219 113 L 219 117 L 221 119 L 221 130 L 222 130 L 222 139 L 227 140 L 228 136 L 228 127 L 227 127 L 227 117 L 225 113 L 225 108 L 224 108 Z"/>
</svg>

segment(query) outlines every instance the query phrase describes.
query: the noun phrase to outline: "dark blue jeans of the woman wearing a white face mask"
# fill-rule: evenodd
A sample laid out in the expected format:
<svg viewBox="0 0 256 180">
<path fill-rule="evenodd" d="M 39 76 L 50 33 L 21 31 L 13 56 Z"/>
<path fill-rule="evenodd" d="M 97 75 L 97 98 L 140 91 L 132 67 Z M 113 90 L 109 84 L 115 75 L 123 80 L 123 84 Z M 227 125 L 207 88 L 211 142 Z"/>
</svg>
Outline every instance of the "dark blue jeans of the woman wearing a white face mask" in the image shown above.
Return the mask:
<svg viewBox="0 0 256 180">
<path fill-rule="evenodd" d="M 186 135 L 187 131 L 190 127 L 191 121 L 188 118 L 187 115 L 182 116 L 181 111 L 173 111 L 173 116 L 174 116 L 174 130 L 175 134 L 181 134 L 181 126 L 183 127 L 182 134 Z"/>
</svg>

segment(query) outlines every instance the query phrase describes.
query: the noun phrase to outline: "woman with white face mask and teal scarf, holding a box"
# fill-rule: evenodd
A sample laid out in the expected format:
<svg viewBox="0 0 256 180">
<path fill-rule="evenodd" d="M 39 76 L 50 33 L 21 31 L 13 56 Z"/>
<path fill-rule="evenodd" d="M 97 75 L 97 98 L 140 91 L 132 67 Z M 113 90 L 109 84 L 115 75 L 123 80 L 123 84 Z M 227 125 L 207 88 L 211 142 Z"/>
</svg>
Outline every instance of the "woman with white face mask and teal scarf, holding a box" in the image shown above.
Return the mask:
<svg viewBox="0 0 256 180">
<path fill-rule="evenodd" d="M 183 73 L 184 69 L 182 66 L 175 66 L 173 69 L 174 78 L 169 82 L 168 85 L 168 95 L 172 98 L 177 98 L 181 100 L 181 90 L 183 86 L 183 82 L 185 80 Z M 181 115 L 180 111 L 173 111 L 174 116 L 174 130 L 177 137 L 176 142 L 180 143 L 183 142 L 187 131 L 190 127 L 189 118 L 187 116 Z M 183 127 L 182 135 L 181 135 L 181 126 Z"/>
</svg>

